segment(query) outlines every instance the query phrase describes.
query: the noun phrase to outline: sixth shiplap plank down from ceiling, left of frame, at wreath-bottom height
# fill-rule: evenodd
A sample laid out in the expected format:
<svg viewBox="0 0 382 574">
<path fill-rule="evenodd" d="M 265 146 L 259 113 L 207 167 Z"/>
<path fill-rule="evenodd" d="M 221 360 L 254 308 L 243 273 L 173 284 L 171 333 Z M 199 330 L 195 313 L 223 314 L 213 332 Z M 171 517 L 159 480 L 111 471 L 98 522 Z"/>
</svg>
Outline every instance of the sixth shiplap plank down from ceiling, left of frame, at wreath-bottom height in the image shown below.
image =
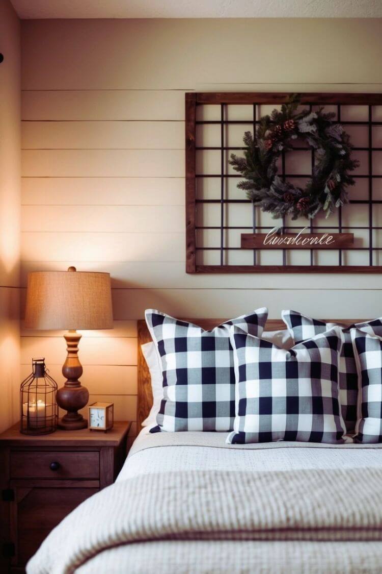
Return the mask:
<svg viewBox="0 0 382 574">
<path fill-rule="evenodd" d="M 182 205 L 24 205 L 21 231 L 166 232 L 185 230 Z"/>
</svg>

